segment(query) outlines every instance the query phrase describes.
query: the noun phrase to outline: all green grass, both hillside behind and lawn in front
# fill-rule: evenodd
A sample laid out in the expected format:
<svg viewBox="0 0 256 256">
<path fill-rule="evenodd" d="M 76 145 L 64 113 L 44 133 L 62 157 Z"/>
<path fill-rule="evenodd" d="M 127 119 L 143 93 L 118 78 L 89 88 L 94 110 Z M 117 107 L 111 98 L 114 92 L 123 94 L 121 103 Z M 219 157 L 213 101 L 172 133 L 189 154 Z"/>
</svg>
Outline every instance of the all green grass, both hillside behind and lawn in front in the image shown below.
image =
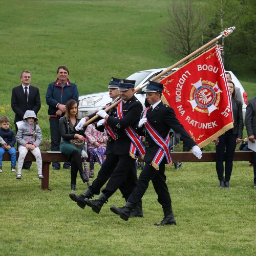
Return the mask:
<svg viewBox="0 0 256 256">
<path fill-rule="evenodd" d="M 168 0 L 0 0 L 0 4 L 0 115 L 13 120 L 11 90 L 20 84 L 20 72 L 30 70 L 31 84 L 41 95 L 42 150 L 49 149 L 50 141 L 45 94 L 58 66 L 69 68 L 70 80 L 83 95 L 105 91 L 112 76 L 125 78 L 177 61 L 163 53 L 159 30 L 167 19 Z M 248 98 L 254 97 L 255 75 L 235 73 Z M 143 198 L 144 218 L 124 222 L 109 209 L 124 204 L 119 191 L 97 215 L 69 199 L 70 173 L 64 169 L 50 171 L 51 190 L 44 191 L 35 163 L 33 172 L 23 172 L 21 181 L 10 172 L 10 163 L 3 167 L 1 255 L 256 253 L 256 190 L 248 162 L 234 163 L 231 189 L 218 187 L 215 163 L 184 163 L 180 170 L 166 170 L 177 226 L 165 227 L 153 225 L 163 213 L 152 184 Z M 80 194 L 86 187 L 79 178 L 77 183 Z"/>
</svg>

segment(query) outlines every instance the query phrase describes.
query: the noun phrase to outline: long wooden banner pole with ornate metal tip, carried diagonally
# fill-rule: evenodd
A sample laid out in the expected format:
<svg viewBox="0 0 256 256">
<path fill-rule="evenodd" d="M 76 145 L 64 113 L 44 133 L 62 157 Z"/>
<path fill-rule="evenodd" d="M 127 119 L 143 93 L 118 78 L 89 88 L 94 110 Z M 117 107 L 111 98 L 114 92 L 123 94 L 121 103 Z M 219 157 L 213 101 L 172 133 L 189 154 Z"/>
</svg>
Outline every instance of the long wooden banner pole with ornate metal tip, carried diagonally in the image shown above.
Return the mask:
<svg viewBox="0 0 256 256">
<path fill-rule="evenodd" d="M 165 69 L 164 71 L 162 71 L 160 74 L 158 74 L 157 76 L 153 77 L 151 80 L 155 81 L 158 78 L 160 78 L 161 76 L 165 75 L 166 73 L 170 72 L 172 69 L 178 67 L 179 65 L 181 65 L 182 63 L 184 63 L 185 61 L 187 61 L 188 59 L 190 59 L 191 57 L 199 54 L 200 52 L 202 52 L 203 50 L 207 49 L 208 47 L 210 47 L 211 45 L 215 44 L 215 42 L 217 42 L 220 38 L 227 37 L 229 36 L 234 30 L 236 29 L 236 27 L 230 27 L 225 29 L 224 31 L 222 31 L 220 33 L 220 35 L 218 35 L 216 38 L 212 39 L 211 41 L 207 42 L 207 44 L 203 45 L 202 47 L 200 47 L 199 49 L 197 49 L 196 51 L 194 51 L 193 53 L 190 53 L 189 55 L 187 55 L 186 57 L 184 57 L 183 59 L 179 60 L 178 62 L 176 62 L 173 66 L 168 67 L 167 69 Z M 147 86 L 148 82 L 143 83 L 141 86 L 136 87 L 134 93 L 137 93 L 138 91 L 140 91 L 142 88 L 144 88 L 145 86 Z M 121 102 L 122 99 L 119 99 L 118 101 L 116 101 L 115 103 L 113 103 L 112 105 L 110 105 L 108 108 L 106 108 L 104 111 L 108 112 L 111 109 L 113 109 L 116 105 L 118 105 Z M 94 117 L 92 117 L 91 119 L 89 119 L 84 125 L 87 126 L 88 124 L 92 123 L 94 120 L 96 120 L 99 116 L 96 115 Z"/>
</svg>

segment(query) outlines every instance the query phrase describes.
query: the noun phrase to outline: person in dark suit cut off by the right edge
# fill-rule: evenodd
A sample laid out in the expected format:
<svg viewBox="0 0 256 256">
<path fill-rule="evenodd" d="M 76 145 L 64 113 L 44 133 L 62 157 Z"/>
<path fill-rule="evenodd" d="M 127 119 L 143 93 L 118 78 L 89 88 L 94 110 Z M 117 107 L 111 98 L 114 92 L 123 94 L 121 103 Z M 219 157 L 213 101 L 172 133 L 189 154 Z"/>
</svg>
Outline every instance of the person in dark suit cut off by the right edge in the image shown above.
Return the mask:
<svg viewBox="0 0 256 256">
<path fill-rule="evenodd" d="M 248 140 L 255 143 L 256 137 L 256 97 L 248 100 L 245 112 L 245 127 L 248 135 Z M 253 151 L 253 173 L 254 187 L 256 188 L 256 152 Z"/>
</svg>

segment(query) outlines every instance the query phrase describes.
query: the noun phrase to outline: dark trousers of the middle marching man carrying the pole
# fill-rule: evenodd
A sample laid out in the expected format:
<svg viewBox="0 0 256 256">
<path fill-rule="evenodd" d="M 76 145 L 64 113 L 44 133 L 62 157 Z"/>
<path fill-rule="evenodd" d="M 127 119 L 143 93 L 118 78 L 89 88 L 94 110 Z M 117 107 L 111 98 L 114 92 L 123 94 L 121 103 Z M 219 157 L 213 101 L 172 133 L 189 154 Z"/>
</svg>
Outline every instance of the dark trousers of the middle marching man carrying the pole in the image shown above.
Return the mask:
<svg viewBox="0 0 256 256">
<path fill-rule="evenodd" d="M 107 198 L 110 198 L 119 187 L 123 189 L 122 185 L 126 183 L 127 191 L 126 195 L 123 195 L 123 197 L 127 198 L 136 186 L 137 180 L 135 159 L 131 158 L 129 154 L 119 155 L 119 161 L 106 187 L 102 189 L 102 193 L 104 193 Z"/>
</svg>

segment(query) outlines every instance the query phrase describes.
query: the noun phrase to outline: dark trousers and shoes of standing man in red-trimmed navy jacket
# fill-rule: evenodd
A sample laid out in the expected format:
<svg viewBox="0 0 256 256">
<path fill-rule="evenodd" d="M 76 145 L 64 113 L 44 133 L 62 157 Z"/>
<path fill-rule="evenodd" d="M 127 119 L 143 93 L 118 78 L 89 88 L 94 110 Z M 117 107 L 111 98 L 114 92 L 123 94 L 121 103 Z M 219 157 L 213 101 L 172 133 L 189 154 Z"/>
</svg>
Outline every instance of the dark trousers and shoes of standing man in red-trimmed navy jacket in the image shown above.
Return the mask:
<svg viewBox="0 0 256 256">
<path fill-rule="evenodd" d="M 59 144 L 61 140 L 61 135 L 59 132 L 59 118 L 49 118 L 50 121 L 50 132 L 51 132 L 51 151 L 59 151 Z M 70 167 L 70 162 L 65 162 L 63 167 Z M 52 162 L 52 166 L 60 168 L 60 162 Z"/>
</svg>

